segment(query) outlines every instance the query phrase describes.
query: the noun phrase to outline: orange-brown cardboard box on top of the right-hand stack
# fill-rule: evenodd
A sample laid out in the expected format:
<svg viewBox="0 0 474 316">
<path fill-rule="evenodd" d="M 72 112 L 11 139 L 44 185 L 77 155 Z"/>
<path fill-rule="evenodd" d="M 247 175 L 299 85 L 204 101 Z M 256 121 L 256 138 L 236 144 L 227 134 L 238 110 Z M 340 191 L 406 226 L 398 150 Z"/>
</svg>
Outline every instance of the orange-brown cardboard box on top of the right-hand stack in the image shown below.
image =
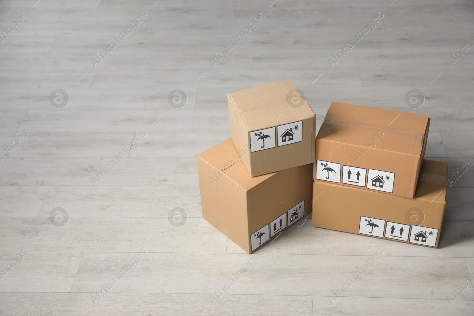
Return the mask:
<svg viewBox="0 0 474 316">
<path fill-rule="evenodd" d="M 313 179 L 413 198 L 429 117 L 332 102 L 316 137 Z"/>
</svg>

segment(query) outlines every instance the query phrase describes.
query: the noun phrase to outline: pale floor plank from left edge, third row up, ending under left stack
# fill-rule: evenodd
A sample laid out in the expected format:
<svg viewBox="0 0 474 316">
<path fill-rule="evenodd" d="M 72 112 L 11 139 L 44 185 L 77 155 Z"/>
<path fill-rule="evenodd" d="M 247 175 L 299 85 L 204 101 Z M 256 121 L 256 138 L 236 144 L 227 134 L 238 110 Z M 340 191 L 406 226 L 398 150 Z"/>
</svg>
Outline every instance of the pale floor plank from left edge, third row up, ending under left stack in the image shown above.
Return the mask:
<svg viewBox="0 0 474 316">
<path fill-rule="evenodd" d="M 133 253 L 145 248 L 156 253 L 225 253 L 226 250 L 227 237 L 189 209 L 190 217 L 182 217 L 182 226 L 173 226 L 168 213 L 160 218 L 79 217 L 80 211 L 66 211 L 70 217 L 64 226 L 51 224 L 49 212 L 47 217 L 4 217 L 0 234 L 6 243 L 0 245 L 0 251 L 14 251 L 31 239 L 33 243 L 39 236 L 32 251 Z"/>
</svg>

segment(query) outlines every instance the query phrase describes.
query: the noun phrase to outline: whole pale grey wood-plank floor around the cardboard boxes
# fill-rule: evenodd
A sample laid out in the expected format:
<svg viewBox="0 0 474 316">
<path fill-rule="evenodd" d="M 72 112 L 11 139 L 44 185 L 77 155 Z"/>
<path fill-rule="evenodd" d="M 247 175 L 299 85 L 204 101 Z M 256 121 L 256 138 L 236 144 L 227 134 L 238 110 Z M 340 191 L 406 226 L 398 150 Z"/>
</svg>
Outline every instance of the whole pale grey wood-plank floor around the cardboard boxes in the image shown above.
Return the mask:
<svg viewBox="0 0 474 316">
<path fill-rule="evenodd" d="M 0 1 L 1 32 L 27 14 L 0 43 L 0 151 L 19 145 L 0 162 L 0 315 L 474 315 L 474 170 L 451 174 L 474 163 L 474 48 L 447 63 L 474 44 L 473 1 L 36 1 Z M 438 249 L 307 220 L 224 289 L 250 256 L 201 217 L 195 155 L 229 137 L 228 92 L 286 79 L 319 125 L 331 101 L 431 117 L 426 157 L 448 162 L 452 180 Z M 56 89 L 67 106 L 52 106 Z"/>
</svg>

